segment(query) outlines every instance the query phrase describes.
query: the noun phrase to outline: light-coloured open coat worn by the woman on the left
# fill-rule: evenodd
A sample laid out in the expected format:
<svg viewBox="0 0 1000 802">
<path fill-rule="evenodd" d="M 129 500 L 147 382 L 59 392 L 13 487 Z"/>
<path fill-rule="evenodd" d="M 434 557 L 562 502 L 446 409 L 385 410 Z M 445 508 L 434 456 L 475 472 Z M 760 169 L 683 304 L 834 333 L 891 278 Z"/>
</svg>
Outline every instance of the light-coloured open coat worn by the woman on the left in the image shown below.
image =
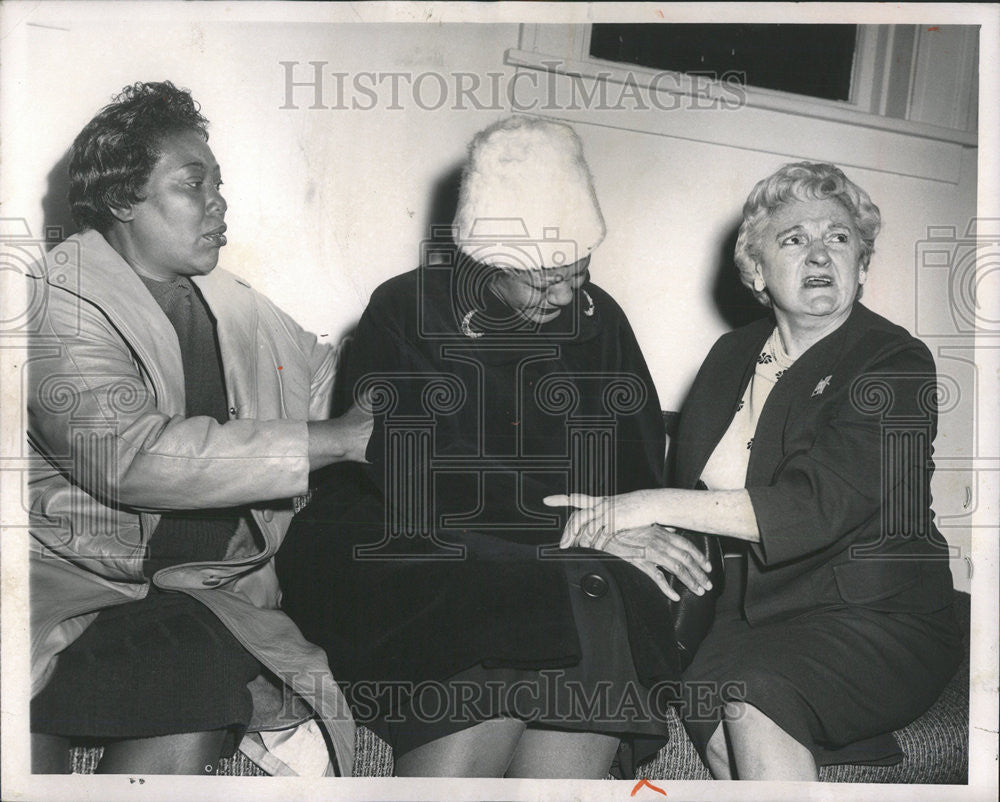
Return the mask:
<svg viewBox="0 0 1000 802">
<path fill-rule="evenodd" d="M 353 720 L 323 651 L 278 609 L 273 565 L 308 491 L 306 421 L 328 415 L 335 349 L 241 279 L 196 277 L 217 320 L 231 420 L 185 418 L 173 327 L 103 236 L 70 237 L 30 281 L 41 299 L 28 380 L 32 694 L 98 611 L 147 594 L 156 511 L 250 505 L 263 551 L 243 527 L 224 561 L 165 568 L 153 582 L 204 603 L 284 681 L 270 695 L 252 683 L 252 730 L 297 724 L 305 700 L 350 774 Z"/>
</svg>

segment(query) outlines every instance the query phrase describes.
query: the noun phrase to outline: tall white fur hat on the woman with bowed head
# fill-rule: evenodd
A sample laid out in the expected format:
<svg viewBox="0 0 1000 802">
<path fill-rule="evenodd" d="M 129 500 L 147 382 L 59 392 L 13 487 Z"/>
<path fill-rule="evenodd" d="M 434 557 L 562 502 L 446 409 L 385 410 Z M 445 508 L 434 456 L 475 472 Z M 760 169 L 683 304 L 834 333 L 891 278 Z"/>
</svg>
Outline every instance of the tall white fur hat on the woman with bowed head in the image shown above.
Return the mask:
<svg viewBox="0 0 1000 802">
<path fill-rule="evenodd" d="M 604 234 L 583 147 L 568 125 L 510 117 L 473 139 L 455 214 L 467 256 L 520 270 L 559 267 Z"/>
</svg>

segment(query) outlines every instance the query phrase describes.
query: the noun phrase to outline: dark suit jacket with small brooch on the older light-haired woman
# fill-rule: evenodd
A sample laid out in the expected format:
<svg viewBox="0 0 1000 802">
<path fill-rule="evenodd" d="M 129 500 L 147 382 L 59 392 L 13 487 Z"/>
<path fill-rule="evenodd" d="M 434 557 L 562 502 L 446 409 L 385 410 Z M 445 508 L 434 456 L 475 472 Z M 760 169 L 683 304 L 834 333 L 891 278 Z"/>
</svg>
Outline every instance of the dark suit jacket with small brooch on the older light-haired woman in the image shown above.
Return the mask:
<svg viewBox="0 0 1000 802">
<path fill-rule="evenodd" d="M 770 318 L 719 339 L 681 413 L 676 484 L 694 487 L 753 376 Z M 748 549 L 751 624 L 860 605 L 931 611 L 952 600 L 933 523 L 934 361 L 904 329 L 856 304 L 775 385 L 746 487 L 760 529 Z"/>
</svg>

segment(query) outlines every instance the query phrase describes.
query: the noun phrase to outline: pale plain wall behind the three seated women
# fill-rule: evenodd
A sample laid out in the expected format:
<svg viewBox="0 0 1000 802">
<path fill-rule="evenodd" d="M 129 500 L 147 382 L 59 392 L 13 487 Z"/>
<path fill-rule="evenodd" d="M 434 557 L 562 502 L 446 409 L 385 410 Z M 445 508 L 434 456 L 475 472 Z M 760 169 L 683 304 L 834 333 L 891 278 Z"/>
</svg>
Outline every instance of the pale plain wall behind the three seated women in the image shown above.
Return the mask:
<svg viewBox="0 0 1000 802">
<path fill-rule="evenodd" d="M 404 108 L 392 110 L 386 108 L 385 84 L 379 107 L 370 111 L 310 109 L 314 96 L 308 87 L 294 90 L 299 108 L 282 109 L 285 68 L 279 62 L 299 62 L 296 80 L 312 76 L 308 62 L 328 62 L 323 101 L 333 105 L 334 71 L 433 71 L 452 82 L 457 72 L 494 72 L 506 87 L 514 70 L 504 65 L 504 51 L 518 45 L 514 24 L 150 19 L 125 25 L 110 17 L 46 14 L 46 4 L 32 11 L 35 25 L 26 31 L 22 52 L 27 63 L 16 83 L 8 84 L 24 102 L 18 106 L 21 119 L 5 128 L 3 216 L 23 216 L 38 234 L 45 222 L 65 222 L 50 193 L 49 173 L 75 134 L 124 84 L 169 78 L 190 88 L 212 121 L 210 144 L 230 205 L 222 266 L 331 338 L 357 320 L 374 287 L 417 265 L 437 182 L 461 162 L 472 134 L 506 112 L 449 108 L 456 100 L 453 89 L 437 110 L 418 108 L 406 89 Z M 425 100 L 433 102 L 434 84 L 425 89 Z M 494 99 L 488 92 L 480 97 Z M 658 133 L 631 130 L 628 115 L 609 117 L 606 111 L 558 116 L 577 123 L 608 223 L 608 238 L 593 261 L 594 280 L 628 313 L 662 406 L 677 409 L 706 351 L 728 328 L 713 288 L 720 271 L 731 269 L 722 245 L 753 184 L 792 159 L 843 161 L 838 157 L 857 153 L 853 164 L 877 165 L 886 148 L 913 143 L 902 135 L 897 141 L 884 132 L 805 123 L 762 110 L 717 112 L 714 118 L 706 118 L 713 114 L 706 111 L 661 114 L 672 116 L 669 124 L 654 126 L 666 125 Z M 706 124 L 737 132 L 746 126 L 747 141 L 734 147 L 689 138 Z M 794 144 L 761 149 L 751 134 L 764 129 L 771 141 L 781 141 L 787 131 Z M 918 323 L 916 290 L 923 278 L 916 269 L 917 244 L 928 225 L 964 231 L 976 213 L 976 159 L 975 149 L 961 151 L 953 181 L 846 168 L 884 219 L 865 302 L 911 330 Z M 51 185 L 58 194 L 60 182 Z M 945 320 L 946 299 L 931 304 L 929 313 Z M 974 378 L 967 365 L 953 362 L 939 357 L 942 371 L 965 388 L 956 410 L 942 417 L 938 440 L 945 469 L 939 470 L 935 493 L 945 516 L 964 514 L 965 488 L 971 485 L 968 464 L 949 458 L 970 453 Z M 961 521 L 948 536 L 968 553 L 969 531 Z M 968 587 L 964 569 L 956 579 Z"/>
</svg>

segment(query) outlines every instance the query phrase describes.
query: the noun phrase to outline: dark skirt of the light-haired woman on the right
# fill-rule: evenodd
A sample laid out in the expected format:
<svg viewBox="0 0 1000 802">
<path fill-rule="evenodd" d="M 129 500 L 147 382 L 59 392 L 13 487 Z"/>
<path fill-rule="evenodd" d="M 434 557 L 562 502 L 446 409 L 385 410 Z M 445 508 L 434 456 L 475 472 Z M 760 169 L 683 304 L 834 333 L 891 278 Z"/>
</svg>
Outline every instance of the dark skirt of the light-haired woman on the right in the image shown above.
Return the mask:
<svg viewBox="0 0 1000 802">
<path fill-rule="evenodd" d="M 682 716 L 704 758 L 727 701 L 744 701 L 817 765 L 902 760 L 893 730 L 937 699 L 961 660 L 951 607 L 886 613 L 816 610 L 751 626 L 741 613 L 744 557 L 727 558 L 716 621 L 684 673 Z"/>
</svg>

